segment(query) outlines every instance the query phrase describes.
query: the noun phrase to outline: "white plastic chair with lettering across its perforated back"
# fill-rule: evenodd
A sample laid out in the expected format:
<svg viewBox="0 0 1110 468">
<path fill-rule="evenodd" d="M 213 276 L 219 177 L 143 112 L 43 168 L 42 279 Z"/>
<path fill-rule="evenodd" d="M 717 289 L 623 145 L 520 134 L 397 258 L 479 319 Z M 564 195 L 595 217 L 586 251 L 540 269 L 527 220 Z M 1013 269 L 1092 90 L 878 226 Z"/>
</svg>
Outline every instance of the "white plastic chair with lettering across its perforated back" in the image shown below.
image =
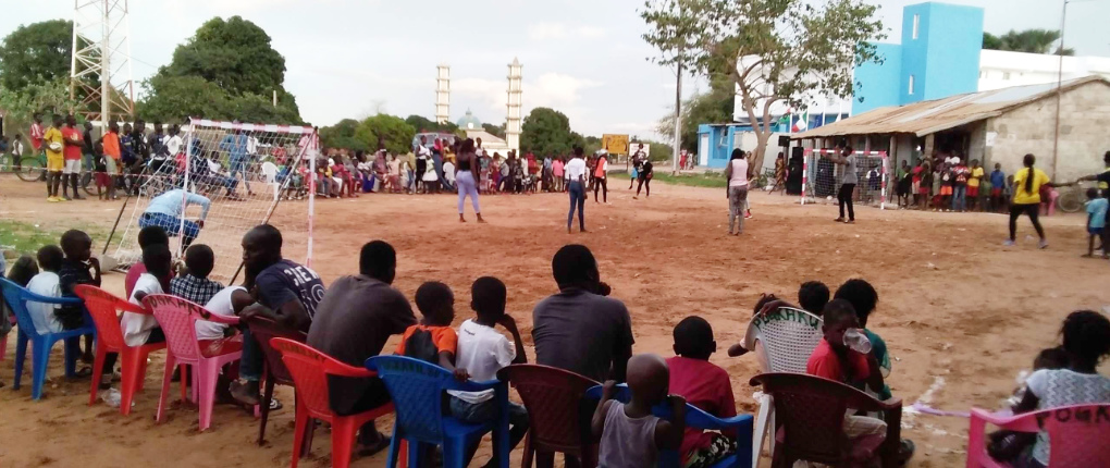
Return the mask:
<svg viewBox="0 0 1110 468">
<path fill-rule="evenodd" d="M 780 307 L 748 323 L 744 347 L 755 352 L 756 342 L 761 343 L 768 367 L 763 369 L 764 373 L 805 374 L 809 356 L 825 336 L 823 324 L 821 317 L 806 311 Z M 771 435 L 767 448 L 773 454 L 775 451 L 775 401 L 764 393 L 757 393 L 755 397 L 759 401 L 759 414 L 751 436 L 753 467 L 759 466 L 759 454 L 768 433 Z"/>
</svg>

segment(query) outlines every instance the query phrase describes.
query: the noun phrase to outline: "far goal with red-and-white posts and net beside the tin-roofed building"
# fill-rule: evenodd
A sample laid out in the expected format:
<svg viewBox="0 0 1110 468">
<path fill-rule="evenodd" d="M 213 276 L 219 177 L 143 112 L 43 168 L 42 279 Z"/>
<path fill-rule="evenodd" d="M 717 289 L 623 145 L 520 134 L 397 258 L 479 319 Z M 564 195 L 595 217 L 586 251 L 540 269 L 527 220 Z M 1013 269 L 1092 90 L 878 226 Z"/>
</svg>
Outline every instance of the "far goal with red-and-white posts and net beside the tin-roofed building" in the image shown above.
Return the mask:
<svg viewBox="0 0 1110 468">
<path fill-rule="evenodd" d="M 828 159 L 837 150 L 806 150 L 801 166 L 801 204 L 836 203 L 844 185 L 845 166 Z M 862 204 L 877 204 L 886 208 L 887 153 L 885 151 L 857 151 L 856 190 L 852 200 Z"/>
</svg>

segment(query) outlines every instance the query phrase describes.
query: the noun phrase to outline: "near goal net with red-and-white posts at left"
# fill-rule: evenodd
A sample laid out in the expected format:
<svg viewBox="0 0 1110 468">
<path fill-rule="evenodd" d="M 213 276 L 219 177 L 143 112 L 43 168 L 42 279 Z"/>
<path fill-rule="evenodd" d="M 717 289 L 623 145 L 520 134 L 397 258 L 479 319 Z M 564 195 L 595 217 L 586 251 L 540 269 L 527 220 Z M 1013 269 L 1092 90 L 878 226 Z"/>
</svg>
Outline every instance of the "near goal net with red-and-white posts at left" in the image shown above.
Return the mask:
<svg viewBox="0 0 1110 468">
<path fill-rule="evenodd" d="M 176 135 L 171 133 L 165 129 L 161 139 L 148 134 L 145 167 L 124 176 L 130 199 L 105 246 L 119 265 L 142 260 L 138 234 L 152 224 L 165 228 L 174 257 L 182 255 L 189 237 L 195 237 L 193 245 L 212 247 L 210 277 L 224 283 L 239 272 L 243 234 L 262 223 L 282 230 L 287 257 L 307 261 L 311 253 L 300 253 L 311 252 L 315 177 L 307 174 L 315 173 L 320 154 L 314 129 L 193 119 Z M 180 189 L 184 192 L 169 193 Z M 205 200 L 201 225 L 196 221 Z"/>
</svg>

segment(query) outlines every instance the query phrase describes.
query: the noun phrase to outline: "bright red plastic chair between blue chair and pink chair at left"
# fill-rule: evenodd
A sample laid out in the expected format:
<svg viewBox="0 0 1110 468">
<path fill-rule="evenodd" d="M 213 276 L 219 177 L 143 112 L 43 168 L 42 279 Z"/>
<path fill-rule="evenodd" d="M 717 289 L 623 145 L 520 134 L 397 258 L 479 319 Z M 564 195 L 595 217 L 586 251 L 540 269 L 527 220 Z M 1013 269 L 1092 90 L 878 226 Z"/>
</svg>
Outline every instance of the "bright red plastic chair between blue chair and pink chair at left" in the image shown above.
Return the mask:
<svg viewBox="0 0 1110 468">
<path fill-rule="evenodd" d="M 159 349 L 165 349 L 165 343 L 152 343 L 142 346 L 128 346 L 123 342 L 123 330 L 120 329 L 120 313 L 150 315 L 150 311 L 115 297 L 111 293 L 95 286 L 77 285 L 73 288 L 82 301 L 92 323 L 97 326 L 97 358 L 92 365 L 92 386 L 89 389 L 89 406 L 97 403 L 97 390 L 100 388 L 100 377 L 104 372 L 104 357 L 108 353 L 119 353 L 120 367 L 123 369 L 123 380 L 120 383 L 120 413 L 131 414 L 131 400 L 135 393 L 143 388 L 147 378 L 147 356 Z"/>
</svg>

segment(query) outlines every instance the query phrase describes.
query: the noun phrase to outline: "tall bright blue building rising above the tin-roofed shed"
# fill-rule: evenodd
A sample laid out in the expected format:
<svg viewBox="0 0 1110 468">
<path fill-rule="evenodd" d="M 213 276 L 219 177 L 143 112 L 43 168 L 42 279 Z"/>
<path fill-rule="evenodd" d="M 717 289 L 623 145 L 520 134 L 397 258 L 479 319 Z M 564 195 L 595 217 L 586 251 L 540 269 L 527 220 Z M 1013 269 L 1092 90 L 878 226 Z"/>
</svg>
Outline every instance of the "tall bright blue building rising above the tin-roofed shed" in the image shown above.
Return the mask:
<svg viewBox="0 0 1110 468">
<path fill-rule="evenodd" d="M 927 2 L 902 9 L 901 43 L 878 43 L 884 62 L 855 70 L 851 113 L 978 91 L 982 9 Z"/>
</svg>

